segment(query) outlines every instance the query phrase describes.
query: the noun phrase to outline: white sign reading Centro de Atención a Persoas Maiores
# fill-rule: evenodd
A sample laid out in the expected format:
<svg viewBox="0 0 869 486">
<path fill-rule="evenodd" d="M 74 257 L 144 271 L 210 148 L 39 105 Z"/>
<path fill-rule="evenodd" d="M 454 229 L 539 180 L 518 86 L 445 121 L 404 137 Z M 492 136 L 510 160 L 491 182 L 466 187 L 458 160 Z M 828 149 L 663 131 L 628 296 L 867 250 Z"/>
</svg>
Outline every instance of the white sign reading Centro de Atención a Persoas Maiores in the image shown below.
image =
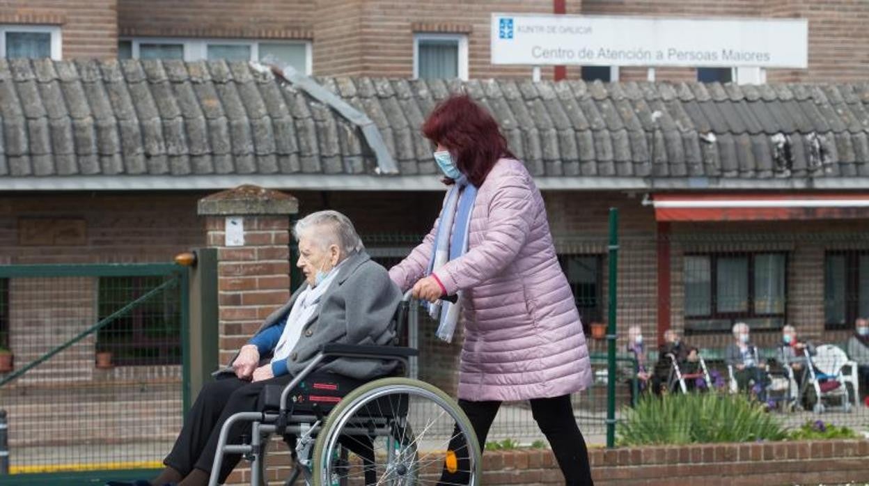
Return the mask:
<svg viewBox="0 0 869 486">
<path fill-rule="evenodd" d="M 494 13 L 492 63 L 805 69 L 808 21 Z"/>
</svg>

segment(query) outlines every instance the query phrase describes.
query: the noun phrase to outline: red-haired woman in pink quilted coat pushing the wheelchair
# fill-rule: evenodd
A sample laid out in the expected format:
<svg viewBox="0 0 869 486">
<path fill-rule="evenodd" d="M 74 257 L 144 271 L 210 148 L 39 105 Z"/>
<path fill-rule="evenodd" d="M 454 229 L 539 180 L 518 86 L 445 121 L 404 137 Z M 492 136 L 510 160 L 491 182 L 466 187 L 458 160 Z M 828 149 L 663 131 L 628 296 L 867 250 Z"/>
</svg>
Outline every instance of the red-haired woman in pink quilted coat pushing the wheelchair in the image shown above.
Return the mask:
<svg viewBox="0 0 869 486">
<path fill-rule="evenodd" d="M 432 303 L 438 336 L 449 340 L 464 326 L 459 404 L 479 442 L 501 402 L 530 400 L 566 483 L 593 484 L 570 402 L 591 383 L 591 367 L 541 192 L 469 97 L 442 102 L 422 132 L 449 189 L 431 232 L 389 276 Z M 440 300 L 454 294 L 455 304 Z M 441 483 L 466 478 L 444 470 Z"/>
</svg>

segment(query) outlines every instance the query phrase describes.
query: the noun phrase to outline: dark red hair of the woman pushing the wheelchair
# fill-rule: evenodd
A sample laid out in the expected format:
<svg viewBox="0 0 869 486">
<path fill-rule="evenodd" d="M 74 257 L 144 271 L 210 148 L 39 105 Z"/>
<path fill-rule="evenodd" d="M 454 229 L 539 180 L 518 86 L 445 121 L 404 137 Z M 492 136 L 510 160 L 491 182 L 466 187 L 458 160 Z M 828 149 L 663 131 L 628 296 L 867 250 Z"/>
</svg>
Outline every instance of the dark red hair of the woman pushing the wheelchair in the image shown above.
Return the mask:
<svg viewBox="0 0 869 486">
<path fill-rule="evenodd" d="M 446 147 L 461 173 L 477 187 L 498 159 L 514 157 L 492 115 L 467 95 L 448 97 L 439 103 L 422 123 L 422 135 Z"/>
</svg>

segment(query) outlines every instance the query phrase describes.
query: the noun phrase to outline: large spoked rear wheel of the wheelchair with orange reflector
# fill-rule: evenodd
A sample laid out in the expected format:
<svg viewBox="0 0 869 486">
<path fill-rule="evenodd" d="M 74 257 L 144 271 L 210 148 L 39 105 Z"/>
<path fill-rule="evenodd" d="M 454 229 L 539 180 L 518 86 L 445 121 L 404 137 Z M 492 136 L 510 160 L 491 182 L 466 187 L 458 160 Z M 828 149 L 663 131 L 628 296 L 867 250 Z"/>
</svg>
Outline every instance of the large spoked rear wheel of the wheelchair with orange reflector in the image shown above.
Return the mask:
<svg viewBox="0 0 869 486">
<path fill-rule="evenodd" d="M 336 463 L 335 451 L 351 451 Z M 328 415 L 314 448 L 314 483 L 480 484 L 481 451 L 468 416 L 446 393 L 408 378 L 366 383 Z"/>
</svg>

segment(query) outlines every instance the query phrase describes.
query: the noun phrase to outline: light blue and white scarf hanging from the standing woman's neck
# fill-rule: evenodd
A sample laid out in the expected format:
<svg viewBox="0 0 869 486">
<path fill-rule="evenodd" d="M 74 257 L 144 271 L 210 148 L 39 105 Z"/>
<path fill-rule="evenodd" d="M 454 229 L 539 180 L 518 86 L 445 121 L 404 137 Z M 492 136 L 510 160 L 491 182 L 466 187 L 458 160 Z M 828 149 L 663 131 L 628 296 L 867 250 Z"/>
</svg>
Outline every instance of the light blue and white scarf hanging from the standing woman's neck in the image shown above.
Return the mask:
<svg viewBox="0 0 869 486">
<path fill-rule="evenodd" d="M 441 223 L 438 224 L 437 234 L 434 236 L 434 251 L 428 263 L 428 275 L 468 251 L 471 210 L 474 209 L 476 197 L 477 188 L 474 184 L 468 183 L 467 177 L 462 175 L 455 180 L 447 195 L 447 202 L 441 210 Z M 455 303 L 437 301 L 428 304 L 428 315 L 440 323 L 436 336 L 447 343 L 453 341 L 455 326 L 461 316 L 462 294 L 463 292 L 459 290 Z"/>
</svg>

